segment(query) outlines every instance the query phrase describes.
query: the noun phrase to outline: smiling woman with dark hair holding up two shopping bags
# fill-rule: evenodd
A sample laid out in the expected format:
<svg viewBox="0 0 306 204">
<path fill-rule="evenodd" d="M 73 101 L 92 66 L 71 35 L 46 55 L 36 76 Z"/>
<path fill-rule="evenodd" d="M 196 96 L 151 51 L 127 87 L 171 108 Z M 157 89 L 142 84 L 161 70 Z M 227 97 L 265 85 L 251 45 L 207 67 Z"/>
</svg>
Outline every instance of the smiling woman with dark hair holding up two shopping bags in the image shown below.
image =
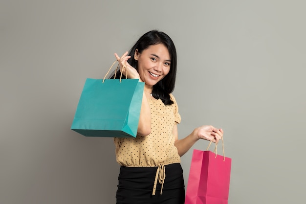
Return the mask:
<svg viewBox="0 0 306 204">
<path fill-rule="evenodd" d="M 180 157 L 199 139 L 218 142 L 222 129 L 204 125 L 178 139 L 181 118 L 175 97 L 176 50 L 171 38 L 156 30 L 145 33 L 130 52 L 119 57 L 128 78 L 145 83 L 136 138 L 114 138 L 121 165 L 117 204 L 184 204 Z M 118 72 L 119 72 L 118 71 Z M 120 74 L 117 73 L 117 76 Z"/>
</svg>

